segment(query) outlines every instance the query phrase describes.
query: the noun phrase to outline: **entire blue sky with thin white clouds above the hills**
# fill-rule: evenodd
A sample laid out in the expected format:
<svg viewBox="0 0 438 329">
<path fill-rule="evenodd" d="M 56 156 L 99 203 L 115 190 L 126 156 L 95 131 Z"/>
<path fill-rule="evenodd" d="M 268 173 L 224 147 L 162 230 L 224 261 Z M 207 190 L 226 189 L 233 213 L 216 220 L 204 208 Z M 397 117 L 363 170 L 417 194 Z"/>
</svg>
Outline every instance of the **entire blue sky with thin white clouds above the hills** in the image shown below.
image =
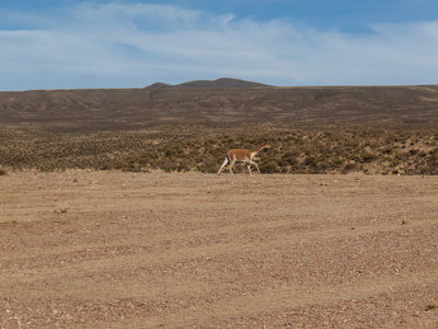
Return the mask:
<svg viewBox="0 0 438 329">
<path fill-rule="evenodd" d="M 0 0 L 0 91 L 438 83 L 436 0 Z"/>
</svg>

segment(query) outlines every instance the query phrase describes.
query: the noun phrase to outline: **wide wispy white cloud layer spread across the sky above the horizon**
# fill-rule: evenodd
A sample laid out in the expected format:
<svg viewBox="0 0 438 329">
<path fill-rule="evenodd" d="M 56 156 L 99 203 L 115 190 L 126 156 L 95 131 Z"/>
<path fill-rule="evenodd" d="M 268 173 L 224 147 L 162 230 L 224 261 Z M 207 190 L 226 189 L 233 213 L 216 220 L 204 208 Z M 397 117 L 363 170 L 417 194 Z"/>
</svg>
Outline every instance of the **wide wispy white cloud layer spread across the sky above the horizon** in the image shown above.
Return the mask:
<svg viewBox="0 0 438 329">
<path fill-rule="evenodd" d="M 31 22 L 31 20 L 34 20 Z M 316 31 L 287 20 L 81 3 L 0 27 L 0 90 L 142 87 L 237 77 L 278 86 L 437 83 L 438 21 Z"/>
</svg>

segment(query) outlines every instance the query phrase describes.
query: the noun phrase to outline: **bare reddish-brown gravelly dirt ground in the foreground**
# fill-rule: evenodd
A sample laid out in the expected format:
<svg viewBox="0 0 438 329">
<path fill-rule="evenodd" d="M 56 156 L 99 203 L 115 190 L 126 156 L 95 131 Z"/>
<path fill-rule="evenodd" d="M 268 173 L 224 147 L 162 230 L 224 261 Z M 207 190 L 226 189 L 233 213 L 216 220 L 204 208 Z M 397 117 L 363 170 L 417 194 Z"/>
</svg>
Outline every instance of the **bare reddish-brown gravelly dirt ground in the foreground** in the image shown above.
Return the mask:
<svg viewBox="0 0 438 329">
<path fill-rule="evenodd" d="M 10 172 L 1 328 L 438 328 L 438 177 Z"/>
</svg>

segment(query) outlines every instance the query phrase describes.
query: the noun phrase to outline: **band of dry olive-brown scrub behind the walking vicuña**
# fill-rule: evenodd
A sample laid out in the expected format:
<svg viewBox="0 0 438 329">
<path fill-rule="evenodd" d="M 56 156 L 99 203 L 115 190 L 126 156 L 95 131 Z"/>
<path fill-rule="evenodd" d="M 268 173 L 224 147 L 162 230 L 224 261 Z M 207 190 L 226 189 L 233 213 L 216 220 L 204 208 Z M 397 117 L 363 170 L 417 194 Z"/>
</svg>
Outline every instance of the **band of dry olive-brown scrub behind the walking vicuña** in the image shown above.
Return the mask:
<svg viewBox="0 0 438 329">
<path fill-rule="evenodd" d="M 155 126 L 101 133 L 0 132 L 0 164 L 69 169 L 217 172 L 231 148 L 255 149 L 264 173 L 438 174 L 436 127 Z M 237 166 L 243 172 L 243 166 Z"/>
</svg>

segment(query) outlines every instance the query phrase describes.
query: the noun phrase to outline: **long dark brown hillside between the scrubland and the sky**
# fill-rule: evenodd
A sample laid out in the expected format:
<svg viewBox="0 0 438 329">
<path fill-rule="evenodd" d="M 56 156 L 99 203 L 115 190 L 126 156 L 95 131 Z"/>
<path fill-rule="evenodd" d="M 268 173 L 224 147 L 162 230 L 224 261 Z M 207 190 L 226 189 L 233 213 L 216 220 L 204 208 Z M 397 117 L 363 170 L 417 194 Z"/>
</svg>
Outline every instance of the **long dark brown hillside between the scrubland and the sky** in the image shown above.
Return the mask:
<svg viewBox="0 0 438 329">
<path fill-rule="evenodd" d="M 438 123 L 438 86 L 232 88 L 234 82 L 0 92 L 0 126 L 95 131 L 203 122 Z"/>
</svg>

